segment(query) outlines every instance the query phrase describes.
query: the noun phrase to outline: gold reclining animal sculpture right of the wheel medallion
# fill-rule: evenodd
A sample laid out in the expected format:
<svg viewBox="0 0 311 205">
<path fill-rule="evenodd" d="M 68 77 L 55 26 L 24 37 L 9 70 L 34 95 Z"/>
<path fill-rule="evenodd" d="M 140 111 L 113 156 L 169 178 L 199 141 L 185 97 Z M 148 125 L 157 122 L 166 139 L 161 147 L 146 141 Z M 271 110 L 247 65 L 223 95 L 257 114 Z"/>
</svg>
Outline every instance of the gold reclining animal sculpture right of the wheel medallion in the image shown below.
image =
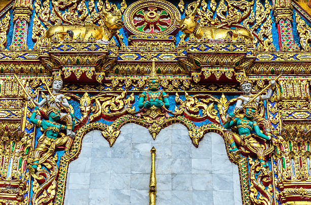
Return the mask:
<svg viewBox="0 0 311 205">
<path fill-rule="evenodd" d="M 199 4 L 195 4 L 194 10 L 185 18 L 179 21 L 180 30 L 185 34 L 193 33 L 194 36 L 198 39 L 205 36 L 208 39 L 225 39 L 227 33 L 232 37 L 233 40 L 236 40 L 239 35 L 244 38 L 244 40 L 253 40 L 254 36 L 250 31 L 245 28 L 218 28 L 216 26 L 200 26 L 197 22 L 198 16 L 197 9 Z"/>
</svg>

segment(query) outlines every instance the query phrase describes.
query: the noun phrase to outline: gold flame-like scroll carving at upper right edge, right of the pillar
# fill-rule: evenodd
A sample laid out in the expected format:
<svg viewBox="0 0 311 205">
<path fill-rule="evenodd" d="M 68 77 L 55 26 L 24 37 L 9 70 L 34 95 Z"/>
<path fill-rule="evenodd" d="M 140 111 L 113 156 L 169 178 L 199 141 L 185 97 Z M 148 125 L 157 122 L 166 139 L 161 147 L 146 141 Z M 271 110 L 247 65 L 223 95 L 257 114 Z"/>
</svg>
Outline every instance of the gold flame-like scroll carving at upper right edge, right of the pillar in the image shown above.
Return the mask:
<svg viewBox="0 0 311 205">
<path fill-rule="evenodd" d="M 300 45 L 302 49 L 306 52 L 311 51 L 311 28 L 306 25 L 304 20 L 297 14 L 296 15 L 297 31 L 300 37 Z"/>
</svg>

